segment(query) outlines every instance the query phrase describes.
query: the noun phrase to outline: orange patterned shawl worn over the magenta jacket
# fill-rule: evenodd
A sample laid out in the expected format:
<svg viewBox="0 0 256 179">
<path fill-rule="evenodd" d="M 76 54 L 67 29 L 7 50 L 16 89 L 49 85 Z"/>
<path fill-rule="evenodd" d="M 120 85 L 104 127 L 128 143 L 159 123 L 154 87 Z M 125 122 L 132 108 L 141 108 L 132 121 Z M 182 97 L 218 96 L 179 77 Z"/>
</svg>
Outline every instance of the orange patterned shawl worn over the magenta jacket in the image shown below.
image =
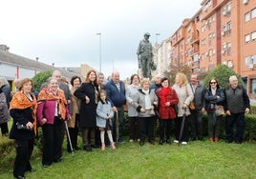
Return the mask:
<svg viewBox="0 0 256 179">
<path fill-rule="evenodd" d="M 66 119 L 66 106 L 68 105 L 65 98 L 64 91 L 58 89 L 56 94 L 53 93 L 51 89 L 45 88 L 42 89 L 38 94 L 38 103 L 44 101 L 55 101 L 57 103 L 58 114 L 62 120 Z"/>
</svg>

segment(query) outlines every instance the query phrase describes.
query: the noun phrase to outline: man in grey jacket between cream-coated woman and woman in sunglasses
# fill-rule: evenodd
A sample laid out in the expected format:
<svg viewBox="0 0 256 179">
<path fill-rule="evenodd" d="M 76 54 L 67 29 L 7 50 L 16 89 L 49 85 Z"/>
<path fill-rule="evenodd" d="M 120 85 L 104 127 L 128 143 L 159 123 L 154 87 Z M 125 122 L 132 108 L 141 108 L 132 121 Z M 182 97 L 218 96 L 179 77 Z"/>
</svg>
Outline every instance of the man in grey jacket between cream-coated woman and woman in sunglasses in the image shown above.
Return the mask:
<svg viewBox="0 0 256 179">
<path fill-rule="evenodd" d="M 191 112 L 190 135 L 191 140 L 203 140 L 203 113 L 205 112 L 204 93 L 205 87 L 199 82 L 198 74 L 190 76 L 190 87 L 194 93 L 194 103 L 196 109 Z"/>
</svg>

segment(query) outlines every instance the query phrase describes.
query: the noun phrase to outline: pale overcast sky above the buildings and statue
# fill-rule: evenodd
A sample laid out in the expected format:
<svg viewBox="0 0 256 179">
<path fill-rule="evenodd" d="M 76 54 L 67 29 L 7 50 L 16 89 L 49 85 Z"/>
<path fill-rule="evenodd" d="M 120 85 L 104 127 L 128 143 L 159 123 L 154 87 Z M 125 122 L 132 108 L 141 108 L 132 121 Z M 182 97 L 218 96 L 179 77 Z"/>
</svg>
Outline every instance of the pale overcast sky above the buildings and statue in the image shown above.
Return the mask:
<svg viewBox="0 0 256 179">
<path fill-rule="evenodd" d="M 154 45 L 170 37 L 203 0 L 0 0 L 0 44 L 55 67 L 89 64 L 105 76 L 137 72 L 144 32 Z M 156 38 L 156 33 L 160 35 Z"/>
</svg>

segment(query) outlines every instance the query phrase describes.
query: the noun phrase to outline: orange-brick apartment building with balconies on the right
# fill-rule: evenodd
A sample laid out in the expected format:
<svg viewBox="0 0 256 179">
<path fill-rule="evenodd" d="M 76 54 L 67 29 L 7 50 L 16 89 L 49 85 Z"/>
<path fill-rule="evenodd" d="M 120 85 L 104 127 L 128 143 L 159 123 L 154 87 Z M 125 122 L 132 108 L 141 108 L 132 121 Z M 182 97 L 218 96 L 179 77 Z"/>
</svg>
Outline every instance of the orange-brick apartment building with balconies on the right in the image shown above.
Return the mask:
<svg viewBox="0 0 256 179">
<path fill-rule="evenodd" d="M 201 5 L 168 39 L 170 58 L 165 60 L 194 72 L 224 64 L 256 97 L 256 0 L 203 0 Z"/>
</svg>

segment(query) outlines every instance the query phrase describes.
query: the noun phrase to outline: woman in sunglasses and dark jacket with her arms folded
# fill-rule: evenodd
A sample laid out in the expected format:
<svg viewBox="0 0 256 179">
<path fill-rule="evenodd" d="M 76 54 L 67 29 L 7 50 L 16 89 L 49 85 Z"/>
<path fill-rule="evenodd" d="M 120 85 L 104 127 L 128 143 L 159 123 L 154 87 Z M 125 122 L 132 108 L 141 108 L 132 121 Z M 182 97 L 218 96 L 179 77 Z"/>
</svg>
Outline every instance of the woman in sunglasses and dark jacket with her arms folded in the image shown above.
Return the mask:
<svg viewBox="0 0 256 179">
<path fill-rule="evenodd" d="M 204 94 L 205 108 L 208 117 L 208 135 L 210 142 L 219 142 L 222 115 L 216 115 L 217 106 L 224 102 L 224 90 L 220 88 L 216 78 L 209 80 L 209 88 Z"/>
</svg>

